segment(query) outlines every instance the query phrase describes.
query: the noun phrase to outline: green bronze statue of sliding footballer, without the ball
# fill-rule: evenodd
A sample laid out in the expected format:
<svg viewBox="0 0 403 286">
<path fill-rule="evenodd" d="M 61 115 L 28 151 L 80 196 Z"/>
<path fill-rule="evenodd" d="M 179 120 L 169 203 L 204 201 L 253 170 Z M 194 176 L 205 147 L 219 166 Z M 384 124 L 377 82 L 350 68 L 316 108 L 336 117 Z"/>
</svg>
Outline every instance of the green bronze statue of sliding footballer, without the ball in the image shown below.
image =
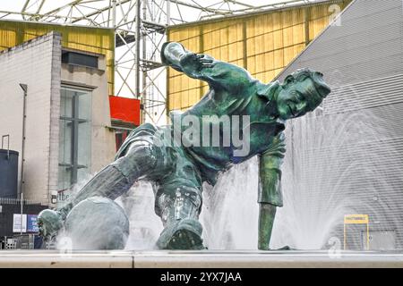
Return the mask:
<svg viewBox="0 0 403 286">
<path fill-rule="evenodd" d="M 209 55 L 194 54 L 178 43 L 165 43 L 161 58 L 176 71 L 207 81 L 208 93 L 186 112 L 171 114 L 173 125 L 157 127 L 144 123 L 133 130 L 119 149 L 115 162 L 94 176 L 67 206 L 57 210 L 58 219 L 46 221 L 45 215 L 39 215 L 42 227 L 45 228 L 47 222 L 64 221 L 74 210 L 73 206 L 82 200 L 92 197 L 115 199 L 130 189 L 134 181 L 148 180 L 153 182 L 155 211 L 164 225 L 157 247 L 202 249 L 202 228 L 198 221 L 202 182 L 214 185 L 219 173 L 233 164 L 260 156 L 258 248 L 269 249 L 276 207 L 283 205 L 281 164 L 286 152 L 285 121 L 313 111 L 330 93 L 322 73 L 304 69 L 289 75 L 283 83 L 263 84 L 243 68 L 217 61 Z M 216 119 L 211 120 L 214 115 Z M 232 140 L 229 146 L 186 144 L 193 142 L 186 126 L 180 125 L 179 130 L 175 128 L 175 122 L 196 118 L 201 126 L 198 134 L 201 142 L 203 136 L 211 136 L 202 132 L 203 126 L 218 124 L 222 131 L 220 119 L 223 116 L 249 116 L 249 124 L 239 122 L 242 127 L 238 130 L 242 136 L 248 135 L 247 154 L 236 155 L 239 147 Z M 234 130 L 230 132 L 232 139 Z M 167 135 L 173 138 L 180 135 L 181 144 L 172 145 Z M 85 215 L 90 212 L 82 213 Z"/>
</svg>

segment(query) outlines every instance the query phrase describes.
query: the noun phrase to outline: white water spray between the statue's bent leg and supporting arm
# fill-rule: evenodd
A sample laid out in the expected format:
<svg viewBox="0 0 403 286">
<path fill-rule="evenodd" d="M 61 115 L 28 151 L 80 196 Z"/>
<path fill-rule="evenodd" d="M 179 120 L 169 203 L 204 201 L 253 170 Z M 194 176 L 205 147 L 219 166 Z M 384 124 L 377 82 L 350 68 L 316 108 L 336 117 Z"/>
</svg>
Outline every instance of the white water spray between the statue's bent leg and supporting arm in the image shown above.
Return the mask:
<svg viewBox="0 0 403 286">
<path fill-rule="evenodd" d="M 257 158 L 235 165 L 214 188 L 204 184 L 201 223 L 209 249 L 256 249 Z"/>
</svg>

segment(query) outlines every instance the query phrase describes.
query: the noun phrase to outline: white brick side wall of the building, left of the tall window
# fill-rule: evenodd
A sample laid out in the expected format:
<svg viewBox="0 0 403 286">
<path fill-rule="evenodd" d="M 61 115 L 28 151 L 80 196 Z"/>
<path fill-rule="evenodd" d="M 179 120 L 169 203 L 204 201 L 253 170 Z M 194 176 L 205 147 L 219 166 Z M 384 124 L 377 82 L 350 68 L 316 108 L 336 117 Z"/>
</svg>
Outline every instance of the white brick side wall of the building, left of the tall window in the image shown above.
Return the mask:
<svg viewBox="0 0 403 286">
<path fill-rule="evenodd" d="M 23 91 L 28 85 L 24 183 L 25 198 L 49 203 L 57 189 L 60 35 L 49 33 L 0 53 L 0 134 L 20 152 Z"/>
</svg>

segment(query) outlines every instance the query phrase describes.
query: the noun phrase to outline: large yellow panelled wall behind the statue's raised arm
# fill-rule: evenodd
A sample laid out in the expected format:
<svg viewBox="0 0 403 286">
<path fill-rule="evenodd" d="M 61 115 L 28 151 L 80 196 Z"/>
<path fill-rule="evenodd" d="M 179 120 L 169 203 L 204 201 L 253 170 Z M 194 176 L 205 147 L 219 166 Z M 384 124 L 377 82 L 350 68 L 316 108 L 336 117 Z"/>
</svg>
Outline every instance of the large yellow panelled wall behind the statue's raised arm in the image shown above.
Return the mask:
<svg viewBox="0 0 403 286">
<path fill-rule="evenodd" d="M 350 0 L 324 1 L 265 13 L 173 26 L 170 41 L 187 49 L 235 63 L 259 80 L 269 82 L 296 57 Z M 332 6 L 330 8 L 331 5 Z M 194 105 L 208 87 L 183 74 L 168 71 L 167 111 Z"/>
</svg>

